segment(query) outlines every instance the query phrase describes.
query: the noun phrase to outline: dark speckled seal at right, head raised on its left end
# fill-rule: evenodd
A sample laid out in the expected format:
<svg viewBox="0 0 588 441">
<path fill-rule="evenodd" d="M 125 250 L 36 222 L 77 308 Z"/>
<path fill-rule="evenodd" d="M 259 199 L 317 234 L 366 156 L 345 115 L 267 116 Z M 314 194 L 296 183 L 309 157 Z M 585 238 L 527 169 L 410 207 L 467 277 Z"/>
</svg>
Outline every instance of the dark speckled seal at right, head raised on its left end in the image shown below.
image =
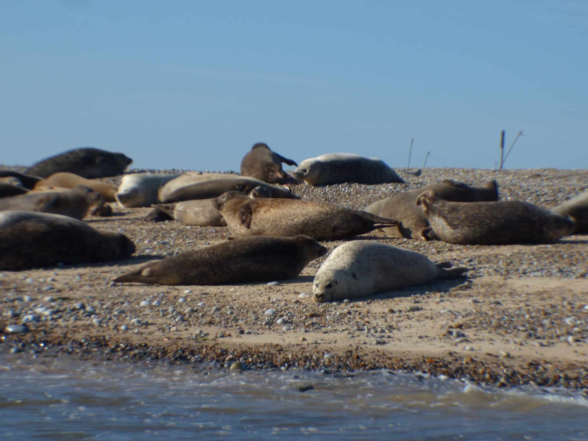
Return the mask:
<svg viewBox="0 0 588 441">
<path fill-rule="evenodd" d="M 450 202 L 427 190 L 416 199 L 435 235 L 461 245 L 551 243 L 570 235 L 576 222 L 522 201 Z"/>
</svg>

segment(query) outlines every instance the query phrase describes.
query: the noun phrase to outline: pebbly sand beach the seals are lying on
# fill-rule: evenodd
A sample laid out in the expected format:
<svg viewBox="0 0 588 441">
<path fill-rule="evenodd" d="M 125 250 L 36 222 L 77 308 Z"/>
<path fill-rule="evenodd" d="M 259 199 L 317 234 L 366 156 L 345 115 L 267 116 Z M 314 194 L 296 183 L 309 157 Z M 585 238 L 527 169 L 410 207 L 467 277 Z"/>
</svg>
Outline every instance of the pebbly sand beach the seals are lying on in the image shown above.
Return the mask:
<svg viewBox="0 0 588 441">
<path fill-rule="evenodd" d="M 302 199 L 362 209 L 392 193 L 451 178 L 496 179 L 501 199 L 552 208 L 588 189 L 586 170 L 427 168 L 406 183 L 294 186 Z M 121 177 L 103 179 L 118 183 Z M 0 348 L 84 358 L 216 362 L 223 369 L 400 369 L 509 387 L 588 390 L 588 235 L 550 245 L 450 245 L 384 235 L 353 240 L 415 250 L 469 268 L 446 280 L 345 302 L 315 303 L 325 258 L 296 279 L 268 285 L 152 286 L 112 283 L 133 266 L 223 242 L 227 227 L 145 222 L 150 208 L 86 218 L 125 233 L 121 262 L 0 272 Z M 323 241 L 329 252 L 343 241 Z M 61 356 L 61 355 L 60 355 Z M 65 355 L 64 355 L 65 356 Z"/>
</svg>

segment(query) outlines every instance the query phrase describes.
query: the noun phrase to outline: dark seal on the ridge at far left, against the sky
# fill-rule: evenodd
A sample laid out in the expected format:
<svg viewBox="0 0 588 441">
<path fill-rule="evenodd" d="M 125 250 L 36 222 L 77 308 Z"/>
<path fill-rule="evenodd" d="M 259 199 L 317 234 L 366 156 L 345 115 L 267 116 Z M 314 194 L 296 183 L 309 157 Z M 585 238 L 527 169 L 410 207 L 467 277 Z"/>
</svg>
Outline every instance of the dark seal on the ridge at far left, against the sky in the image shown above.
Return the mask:
<svg viewBox="0 0 588 441">
<path fill-rule="evenodd" d="M 26 169 L 25 173 L 41 178 L 59 172 L 75 173 L 86 179 L 108 178 L 122 175 L 131 162 L 133 160 L 123 153 L 83 147 L 45 158 Z"/>
</svg>

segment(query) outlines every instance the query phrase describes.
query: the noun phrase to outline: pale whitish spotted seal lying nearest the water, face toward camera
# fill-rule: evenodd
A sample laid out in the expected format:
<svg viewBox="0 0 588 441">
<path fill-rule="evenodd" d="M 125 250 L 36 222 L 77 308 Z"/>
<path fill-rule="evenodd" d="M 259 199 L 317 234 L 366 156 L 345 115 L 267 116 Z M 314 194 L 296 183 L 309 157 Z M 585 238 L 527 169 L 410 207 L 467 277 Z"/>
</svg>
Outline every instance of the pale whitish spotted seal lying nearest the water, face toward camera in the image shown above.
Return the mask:
<svg viewBox="0 0 588 441">
<path fill-rule="evenodd" d="M 316 272 L 312 292 L 317 302 L 353 299 L 423 285 L 436 279 L 462 277 L 467 268 L 445 269 L 447 263 L 370 240 L 339 245 Z"/>
</svg>

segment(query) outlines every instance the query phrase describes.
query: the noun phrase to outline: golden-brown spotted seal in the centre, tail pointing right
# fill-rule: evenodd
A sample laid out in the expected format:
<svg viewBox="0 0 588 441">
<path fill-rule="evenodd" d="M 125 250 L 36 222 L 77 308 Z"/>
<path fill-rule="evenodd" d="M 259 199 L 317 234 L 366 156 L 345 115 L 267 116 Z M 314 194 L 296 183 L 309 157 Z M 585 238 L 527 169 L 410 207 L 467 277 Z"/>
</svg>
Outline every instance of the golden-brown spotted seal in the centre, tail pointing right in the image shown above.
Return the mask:
<svg viewBox="0 0 588 441">
<path fill-rule="evenodd" d="M 298 199 L 251 199 L 228 192 L 213 199 L 233 238 L 306 235 L 316 240 L 343 239 L 394 226 L 393 219 L 329 203 Z"/>
</svg>

